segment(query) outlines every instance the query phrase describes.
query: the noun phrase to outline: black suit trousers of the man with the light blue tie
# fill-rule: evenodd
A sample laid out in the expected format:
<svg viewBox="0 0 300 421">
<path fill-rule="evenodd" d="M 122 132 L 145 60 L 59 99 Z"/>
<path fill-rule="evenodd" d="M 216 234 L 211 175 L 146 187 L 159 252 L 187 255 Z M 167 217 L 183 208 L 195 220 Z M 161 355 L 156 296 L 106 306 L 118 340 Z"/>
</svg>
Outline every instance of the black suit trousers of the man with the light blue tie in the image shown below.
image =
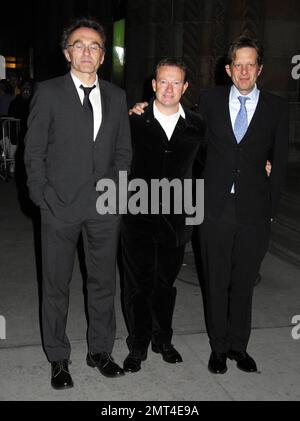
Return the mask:
<svg viewBox="0 0 300 421">
<path fill-rule="evenodd" d="M 207 330 L 213 351 L 247 348 L 254 282 L 269 236 L 270 222 L 237 222 L 234 195 L 219 220 L 205 220 L 200 226 Z"/>
</svg>

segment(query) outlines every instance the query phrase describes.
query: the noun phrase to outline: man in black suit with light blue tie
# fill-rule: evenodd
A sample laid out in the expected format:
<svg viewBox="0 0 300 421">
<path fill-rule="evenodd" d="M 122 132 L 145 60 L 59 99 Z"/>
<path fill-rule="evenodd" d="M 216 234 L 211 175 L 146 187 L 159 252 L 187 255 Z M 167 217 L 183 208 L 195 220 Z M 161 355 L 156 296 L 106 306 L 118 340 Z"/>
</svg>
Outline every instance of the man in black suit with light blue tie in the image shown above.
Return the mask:
<svg viewBox="0 0 300 421">
<path fill-rule="evenodd" d="M 256 40 L 236 39 L 226 65 L 233 85 L 204 92 L 199 103 L 208 141 L 200 239 L 212 373 L 225 373 L 227 358 L 241 370 L 257 371 L 246 352 L 253 287 L 268 248 L 288 150 L 287 104 L 256 85 L 262 56 Z"/>
</svg>

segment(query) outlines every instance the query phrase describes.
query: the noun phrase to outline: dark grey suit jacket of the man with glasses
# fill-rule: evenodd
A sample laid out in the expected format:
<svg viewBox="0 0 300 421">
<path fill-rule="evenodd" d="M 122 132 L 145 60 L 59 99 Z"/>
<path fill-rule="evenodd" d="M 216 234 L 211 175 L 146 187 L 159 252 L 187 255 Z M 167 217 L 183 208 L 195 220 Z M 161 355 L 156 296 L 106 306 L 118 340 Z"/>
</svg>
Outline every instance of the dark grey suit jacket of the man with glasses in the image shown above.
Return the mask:
<svg viewBox="0 0 300 421">
<path fill-rule="evenodd" d="M 25 139 L 30 197 L 58 218 L 76 221 L 96 206 L 96 183 L 118 180 L 131 162 L 125 93 L 99 80 L 102 124 L 95 142 L 70 73 L 39 84 Z"/>
</svg>

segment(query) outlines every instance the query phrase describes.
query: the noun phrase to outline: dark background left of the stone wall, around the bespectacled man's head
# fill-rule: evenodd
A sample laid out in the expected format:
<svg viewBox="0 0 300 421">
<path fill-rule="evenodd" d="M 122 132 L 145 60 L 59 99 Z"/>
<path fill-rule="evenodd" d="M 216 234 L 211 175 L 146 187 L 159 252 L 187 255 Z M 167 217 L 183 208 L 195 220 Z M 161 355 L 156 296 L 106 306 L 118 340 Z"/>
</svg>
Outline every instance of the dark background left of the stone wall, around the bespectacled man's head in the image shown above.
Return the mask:
<svg viewBox="0 0 300 421">
<path fill-rule="evenodd" d="M 34 78 L 38 81 L 61 75 L 67 71 L 60 49 L 63 28 L 75 17 L 93 16 L 105 27 L 109 47 L 113 21 L 125 17 L 125 6 L 126 1 L 121 0 L 7 1 L 0 11 L 0 54 L 17 56 L 25 76 L 32 54 Z M 102 76 L 109 79 L 111 48 L 106 58 Z"/>
</svg>

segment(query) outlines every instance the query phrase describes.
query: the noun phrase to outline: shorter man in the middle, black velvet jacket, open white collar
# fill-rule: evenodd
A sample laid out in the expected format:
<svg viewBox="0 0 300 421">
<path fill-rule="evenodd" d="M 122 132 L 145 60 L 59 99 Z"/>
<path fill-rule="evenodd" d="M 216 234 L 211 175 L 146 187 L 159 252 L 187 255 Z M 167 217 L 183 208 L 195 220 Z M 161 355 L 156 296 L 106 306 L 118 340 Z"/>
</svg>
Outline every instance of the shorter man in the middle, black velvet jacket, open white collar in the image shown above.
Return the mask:
<svg viewBox="0 0 300 421">
<path fill-rule="evenodd" d="M 180 104 L 186 89 L 186 68 L 176 59 L 163 59 L 152 81 L 155 100 L 141 116 L 130 119 L 133 143 L 131 176 L 142 179 L 151 191 L 151 181 L 176 179 L 180 185 L 192 179 L 193 163 L 204 137 L 203 119 Z M 171 189 L 172 190 L 172 189 Z M 176 187 L 175 187 L 176 190 Z M 180 188 L 179 188 L 180 191 Z M 124 269 L 124 310 L 128 327 L 129 354 L 124 370 L 136 372 L 141 361 L 152 350 L 164 361 L 179 363 L 182 357 L 171 343 L 172 317 L 176 299 L 173 286 L 181 269 L 185 244 L 192 226 L 186 225 L 187 215 L 176 214 L 179 191 L 170 195 L 170 209 L 160 203 L 158 214 L 151 214 L 152 194 L 148 209 L 136 215 L 125 215 L 122 223 Z M 156 205 L 156 203 L 153 203 Z"/>
</svg>

